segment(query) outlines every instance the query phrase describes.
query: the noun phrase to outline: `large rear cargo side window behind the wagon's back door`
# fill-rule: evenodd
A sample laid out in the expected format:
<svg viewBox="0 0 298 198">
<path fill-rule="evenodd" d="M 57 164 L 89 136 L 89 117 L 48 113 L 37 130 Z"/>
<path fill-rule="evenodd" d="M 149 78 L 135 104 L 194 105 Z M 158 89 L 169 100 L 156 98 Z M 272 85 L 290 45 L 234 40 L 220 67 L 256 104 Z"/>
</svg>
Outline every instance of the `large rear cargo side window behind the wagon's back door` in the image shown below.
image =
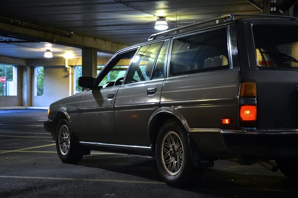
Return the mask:
<svg viewBox="0 0 298 198">
<path fill-rule="evenodd" d="M 226 28 L 176 38 L 170 76 L 229 69 L 228 57 Z"/>
</svg>

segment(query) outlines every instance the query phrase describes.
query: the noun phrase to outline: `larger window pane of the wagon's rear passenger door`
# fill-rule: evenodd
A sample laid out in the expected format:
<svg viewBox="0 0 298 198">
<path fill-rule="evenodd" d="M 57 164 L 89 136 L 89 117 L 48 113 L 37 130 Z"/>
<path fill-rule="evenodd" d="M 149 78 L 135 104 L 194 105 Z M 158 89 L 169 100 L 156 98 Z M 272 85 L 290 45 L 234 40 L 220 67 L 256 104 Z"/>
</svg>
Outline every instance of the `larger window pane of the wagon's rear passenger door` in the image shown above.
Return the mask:
<svg viewBox="0 0 298 198">
<path fill-rule="evenodd" d="M 125 84 L 149 81 L 156 55 L 162 42 L 144 45 L 134 57 Z"/>
</svg>

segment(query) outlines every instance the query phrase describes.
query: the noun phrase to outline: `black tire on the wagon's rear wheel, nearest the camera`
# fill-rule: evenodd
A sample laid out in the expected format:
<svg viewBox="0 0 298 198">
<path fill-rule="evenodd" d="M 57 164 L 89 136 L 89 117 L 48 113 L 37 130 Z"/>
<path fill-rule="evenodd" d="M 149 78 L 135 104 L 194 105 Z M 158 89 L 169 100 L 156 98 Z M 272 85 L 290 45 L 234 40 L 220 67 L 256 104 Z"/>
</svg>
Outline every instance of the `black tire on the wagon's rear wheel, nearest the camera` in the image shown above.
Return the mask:
<svg viewBox="0 0 298 198">
<path fill-rule="evenodd" d="M 167 141 L 169 140 L 167 138 L 170 135 L 172 135 L 172 137 L 176 137 L 176 135 L 178 135 L 182 144 L 183 160 L 180 166 L 177 165 L 177 162 L 180 162 L 179 161 L 180 159 L 178 158 L 177 155 L 179 153 L 181 154 L 181 147 L 180 148 L 176 147 L 176 149 L 172 148 L 171 149 L 172 151 L 167 152 L 167 149 L 170 149 L 170 147 L 167 146 L 167 142 L 169 142 Z M 176 140 L 179 141 L 179 138 L 176 137 Z M 169 156 L 162 158 L 162 152 L 163 152 L 163 156 L 166 156 L 167 153 L 169 153 L 168 154 Z M 175 152 L 177 154 L 175 154 Z M 162 125 L 156 139 L 155 154 L 156 154 L 156 163 L 157 163 L 159 174 L 164 180 L 164 182 L 166 182 L 167 185 L 169 186 L 183 187 L 189 184 L 190 182 L 192 182 L 193 179 L 199 180 L 204 172 L 203 168 L 193 167 L 190 146 L 187 139 L 187 133 L 185 132 L 184 126 L 182 126 L 181 123 L 177 122 L 176 119 L 167 120 Z M 175 158 L 175 156 L 177 157 Z M 172 159 L 173 166 L 176 162 L 176 165 L 177 165 L 176 169 L 175 168 L 173 169 L 173 167 L 169 165 L 169 159 L 170 161 Z M 166 164 L 165 162 L 168 164 Z M 173 170 L 171 171 L 171 169 Z"/>
</svg>

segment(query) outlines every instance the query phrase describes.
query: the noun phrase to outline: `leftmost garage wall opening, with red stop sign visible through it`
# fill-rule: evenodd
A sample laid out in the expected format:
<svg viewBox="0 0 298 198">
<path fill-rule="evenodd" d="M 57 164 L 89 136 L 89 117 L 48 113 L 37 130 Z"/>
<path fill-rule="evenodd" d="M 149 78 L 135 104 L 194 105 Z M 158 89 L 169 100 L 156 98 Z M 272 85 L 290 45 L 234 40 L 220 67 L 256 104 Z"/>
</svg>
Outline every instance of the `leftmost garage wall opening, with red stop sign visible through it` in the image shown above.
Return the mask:
<svg viewBox="0 0 298 198">
<path fill-rule="evenodd" d="M 17 95 L 17 67 L 0 64 L 0 95 Z"/>
</svg>

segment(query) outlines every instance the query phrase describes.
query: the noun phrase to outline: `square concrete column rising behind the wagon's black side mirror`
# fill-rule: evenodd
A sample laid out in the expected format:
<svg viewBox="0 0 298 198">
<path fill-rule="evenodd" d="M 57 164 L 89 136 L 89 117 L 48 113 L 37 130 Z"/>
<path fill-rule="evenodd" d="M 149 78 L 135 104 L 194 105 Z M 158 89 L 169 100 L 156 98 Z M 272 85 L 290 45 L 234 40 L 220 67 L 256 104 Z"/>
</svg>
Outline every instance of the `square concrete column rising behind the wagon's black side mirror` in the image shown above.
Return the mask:
<svg viewBox="0 0 298 198">
<path fill-rule="evenodd" d="M 82 76 L 93 77 L 97 75 L 97 50 L 82 49 Z"/>
</svg>

